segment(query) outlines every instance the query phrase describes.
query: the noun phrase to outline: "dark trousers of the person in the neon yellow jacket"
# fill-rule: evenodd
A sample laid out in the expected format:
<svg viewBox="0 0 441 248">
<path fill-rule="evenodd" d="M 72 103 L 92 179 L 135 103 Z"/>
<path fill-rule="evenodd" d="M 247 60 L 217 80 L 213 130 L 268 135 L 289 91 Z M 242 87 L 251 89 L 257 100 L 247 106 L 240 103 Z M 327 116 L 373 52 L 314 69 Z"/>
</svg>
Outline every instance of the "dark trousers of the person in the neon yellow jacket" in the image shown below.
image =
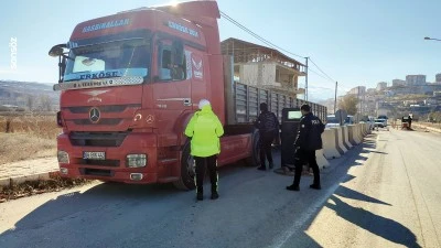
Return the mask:
<svg viewBox="0 0 441 248">
<path fill-rule="evenodd" d="M 207 169 L 212 182 L 212 193 L 217 192 L 217 155 L 194 157 L 194 161 L 196 163 L 196 193 L 204 192 L 204 176 Z"/>
</svg>

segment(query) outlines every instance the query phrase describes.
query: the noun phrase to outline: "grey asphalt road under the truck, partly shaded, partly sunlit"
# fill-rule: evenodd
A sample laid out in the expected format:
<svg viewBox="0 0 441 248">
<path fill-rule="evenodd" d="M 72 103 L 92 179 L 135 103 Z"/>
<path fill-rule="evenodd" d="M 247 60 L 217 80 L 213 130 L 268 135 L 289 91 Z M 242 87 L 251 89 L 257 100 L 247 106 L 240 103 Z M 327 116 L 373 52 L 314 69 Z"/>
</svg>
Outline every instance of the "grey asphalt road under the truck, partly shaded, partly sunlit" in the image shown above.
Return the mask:
<svg viewBox="0 0 441 248">
<path fill-rule="evenodd" d="M 441 247 L 440 148 L 441 134 L 377 131 L 330 161 L 322 191 L 236 164 L 217 201 L 107 183 L 21 198 L 0 204 L 0 247 Z"/>
</svg>

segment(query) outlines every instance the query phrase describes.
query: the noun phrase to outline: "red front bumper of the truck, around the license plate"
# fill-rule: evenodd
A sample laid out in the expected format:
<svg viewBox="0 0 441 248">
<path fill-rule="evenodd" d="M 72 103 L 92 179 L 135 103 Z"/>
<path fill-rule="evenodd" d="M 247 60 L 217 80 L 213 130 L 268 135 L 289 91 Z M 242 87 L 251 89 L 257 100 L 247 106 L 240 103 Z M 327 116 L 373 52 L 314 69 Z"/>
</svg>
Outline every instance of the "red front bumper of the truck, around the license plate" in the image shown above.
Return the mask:
<svg viewBox="0 0 441 248">
<path fill-rule="evenodd" d="M 123 183 L 157 183 L 157 136 L 129 133 L 119 147 L 73 145 L 68 134 L 57 138 L 58 151 L 68 153 L 68 163 L 58 163 L 64 177 L 115 181 Z M 105 160 L 85 160 L 83 152 L 106 152 Z M 128 168 L 128 154 L 147 154 L 143 168 Z"/>
</svg>

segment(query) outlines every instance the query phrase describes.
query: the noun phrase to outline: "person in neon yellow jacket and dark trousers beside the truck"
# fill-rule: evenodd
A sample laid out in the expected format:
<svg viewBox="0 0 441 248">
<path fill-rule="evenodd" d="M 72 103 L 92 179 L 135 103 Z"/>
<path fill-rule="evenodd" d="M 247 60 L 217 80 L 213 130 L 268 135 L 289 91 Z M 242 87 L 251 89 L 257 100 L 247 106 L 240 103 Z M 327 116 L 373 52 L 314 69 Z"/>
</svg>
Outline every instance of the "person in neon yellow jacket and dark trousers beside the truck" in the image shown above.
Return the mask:
<svg viewBox="0 0 441 248">
<path fill-rule="evenodd" d="M 224 134 L 224 128 L 208 100 L 202 99 L 198 108 L 185 128 L 185 136 L 192 138 L 191 154 L 196 163 L 196 198 L 204 200 L 204 175 L 208 169 L 212 200 L 216 200 L 219 197 L 217 155 L 220 153 L 219 137 Z"/>
</svg>

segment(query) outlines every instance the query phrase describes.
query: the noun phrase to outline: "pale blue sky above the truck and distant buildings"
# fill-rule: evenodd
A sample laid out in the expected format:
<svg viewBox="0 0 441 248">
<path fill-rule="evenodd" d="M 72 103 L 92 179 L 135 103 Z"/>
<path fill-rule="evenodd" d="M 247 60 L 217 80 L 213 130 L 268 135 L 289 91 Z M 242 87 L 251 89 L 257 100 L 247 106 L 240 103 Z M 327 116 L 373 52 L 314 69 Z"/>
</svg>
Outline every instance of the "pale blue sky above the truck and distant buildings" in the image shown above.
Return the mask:
<svg viewBox="0 0 441 248">
<path fill-rule="evenodd" d="M 68 41 L 75 25 L 139 7 L 170 0 L 15 0 L 0 9 L 0 79 L 56 83 L 57 58 L 49 50 Z M 271 43 L 310 63 L 309 97 L 334 97 L 356 86 L 391 84 L 406 75 L 423 74 L 428 82 L 441 73 L 440 0 L 218 0 L 219 9 Z M 220 39 L 260 41 L 225 19 Z M 17 54 L 11 52 L 17 48 Z M 14 67 L 14 68 L 12 68 Z M 304 86 L 304 77 L 299 79 Z"/>
</svg>

